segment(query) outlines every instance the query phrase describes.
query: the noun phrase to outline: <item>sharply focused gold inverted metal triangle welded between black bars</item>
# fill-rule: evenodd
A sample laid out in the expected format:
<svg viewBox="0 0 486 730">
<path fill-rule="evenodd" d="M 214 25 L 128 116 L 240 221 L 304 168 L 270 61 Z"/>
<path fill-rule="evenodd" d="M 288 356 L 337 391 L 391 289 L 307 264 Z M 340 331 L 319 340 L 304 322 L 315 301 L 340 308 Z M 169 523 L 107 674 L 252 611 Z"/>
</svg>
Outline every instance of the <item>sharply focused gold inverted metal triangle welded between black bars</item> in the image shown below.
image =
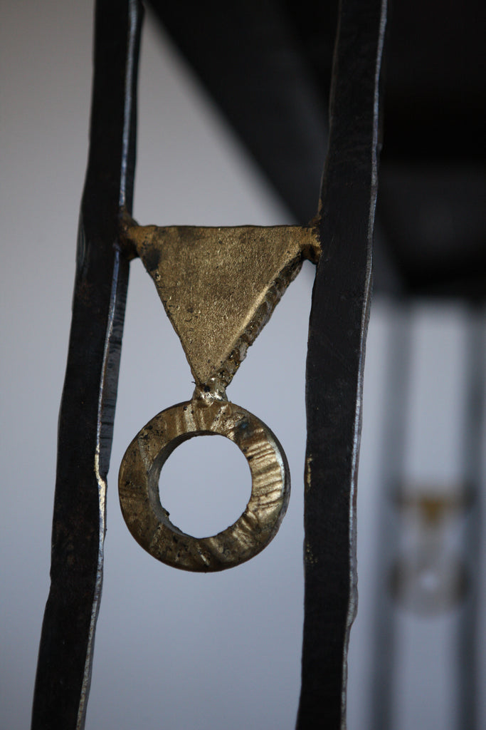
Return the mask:
<svg viewBox="0 0 486 730">
<path fill-rule="evenodd" d="M 198 384 L 228 385 L 302 265 L 316 260 L 301 226 L 133 226 L 128 239 L 154 279 Z"/>
</svg>

